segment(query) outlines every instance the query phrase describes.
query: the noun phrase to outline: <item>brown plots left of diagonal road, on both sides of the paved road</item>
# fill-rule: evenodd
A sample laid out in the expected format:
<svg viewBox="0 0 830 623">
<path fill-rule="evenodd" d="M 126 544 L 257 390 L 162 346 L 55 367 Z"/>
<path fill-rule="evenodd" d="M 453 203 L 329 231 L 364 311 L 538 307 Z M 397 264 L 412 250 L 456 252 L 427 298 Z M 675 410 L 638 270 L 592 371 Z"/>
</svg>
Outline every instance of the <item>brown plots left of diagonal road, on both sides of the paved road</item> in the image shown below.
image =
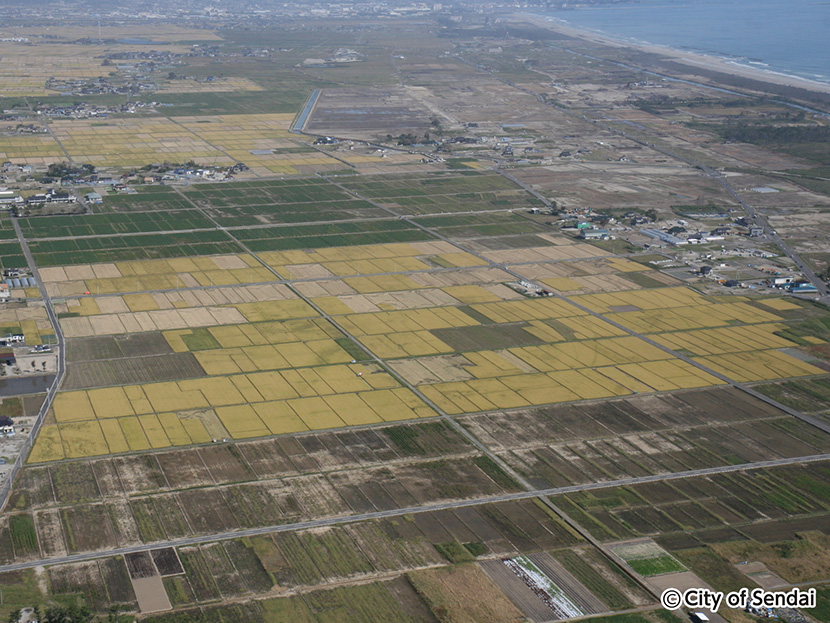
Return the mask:
<svg viewBox="0 0 830 623">
<path fill-rule="evenodd" d="M 24 546 L 9 531 L 0 530 L 0 560 L 26 560 L 35 550 L 56 554 L 152 542 L 218 526 L 253 527 L 276 517 L 290 521 L 309 514 L 320 516 L 321 512 L 361 512 L 416 500 L 464 497 L 478 487 L 490 492 L 515 490 L 480 456 L 472 461 L 461 458 L 469 450 L 451 428 L 433 423 L 242 443 L 236 451 L 216 446 L 160 452 L 148 455 L 151 461 L 135 457 L 29 468 L 24 478 L 26 495 L 17 499 L 13 517 L 18 527 L 15 534 L 25 524 L 34 529 L 34 541 Z M 320 475 L 303 476 L 312 466 Z M 377 466 L 388 466 L 382 482 L 364 480 L 362 470 L 373 472 Z M 361 471 L 355 469 L 358 467 Z M 279 498 L 274 497 L 274 484 L 279 482 L 275 475 L 289 486 Z M 503 482 L 500 486 L 487 484 L 488 477 Z M 430 489 L 430 484 L 438 482 Z M 196 492 L 189 489 L 200 483 L 210 487 L 200 488 L 194 495 Z M 234 483 L 233 487 L 225 486 Z M 213 494 L 217 490 L 221 495 Z M 301 494 L 294 498 L 293 491 Z M 327 495 L 338 496 L 335 491 L 343 497 Z M 289 500 L 293 502 L 286 507 Z M 103 520 L 93 532 L 88 518 L 102 511 Z M 474 563 L 477 557 L 518 554 L 529 555 L 547 573 L 555 571 L 554 577 L 563 582 L 565 590 L 590 600 L 591 612 L 648 603 L 642 589 L 615 572 L 561 520 L 531 500 L 176 550 L 159 547 L 129 554 L 123 561 L 113 558 L 54 566 L 48 579 L 52 594 L 83 591 L 93 607 L 113 596 L 129 607 L 140 606 L 142 596 L 133 580 L 148 577 L 160 579 L 160 586 L 177 607 L 211 607 L 217 599 L 251 600 L 266 592 L 273 597 L 275 592 L 305 589 L 302 598 L 252 602 L 245 612 L 246 620 L 259 621 L 267 620 L 260 617 L 268 613 L 293 617 L 298 612 L 316 611 L 323 603 L 330 607 L 332 599 L 341 595 L 353 598 L 340 589 L 327 591 L 327 597 L 318 597 L 309 589 L 363 576 L 368 582 L 361 582 L 360 595 L 372 600 L 367 608 L 376 618 L 370 620 L 380 623 L 392 620 L 384 617 L 399 620 L 402 611 L 396 600 L 405 600 L 407 608 L 412 607 L 413 599 L 432 603 L 430 595 L 455 592 L 470 582 L 486 587 L 491 595 L 490 605 L 477 608 L 477 615 L 489 614 L 492 608 L 497 614 L 519 613 L 510 600 L 521 592 L 517 593 L 515 585 L 505 584 L 504 578 L 492 575 L 488 565 L 493 560 L 484 562 L 482 558 L 481 567 L 467 564 L 463 570 L 451 566 Z M 416 569 L 409 577 L 411 584 L 388 581 L 390 575 Z M 382 584 L 373 582 L 373 574 L 386 579 Z M 404 590 L 407 586 L 409 592 Z M 418 587 L 417 593 L 412 586 Z M 383 595 L 386 597 L 381 599 Z M 533 601 L 525 597 L 517 605 L 526 612 Z M 462 605 L 459 602 L 452 607 Z"/>
</svg>

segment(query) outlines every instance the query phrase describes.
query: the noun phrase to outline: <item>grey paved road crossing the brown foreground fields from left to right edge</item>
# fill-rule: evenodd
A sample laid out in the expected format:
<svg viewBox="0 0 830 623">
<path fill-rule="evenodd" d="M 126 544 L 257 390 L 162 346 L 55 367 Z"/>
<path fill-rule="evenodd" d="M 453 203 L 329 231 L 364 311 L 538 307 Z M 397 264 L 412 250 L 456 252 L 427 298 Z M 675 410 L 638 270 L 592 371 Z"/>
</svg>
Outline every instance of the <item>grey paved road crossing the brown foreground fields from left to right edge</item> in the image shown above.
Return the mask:
<svg viewBox="0 0 830 623">
<path fill-rule="evenodd" d="M 597 489 L 610 489 L 614 487 L 626 487 L 631 485 L 643 484 L 648 482 L 662 482 L 668 480 L 679 480 L 683 478 L 694 478 L 695 476 L 711 476 L 715 474 L 726 474 L 731 472 L 752 471 L 757 469 L 765 469 L 769 467 L 779 467 L 782 465 L 798 465 L 804 463 L 815 463 L 819 461 L 830 461 L 830 454 L 816 454 L 811 456 L 792 457 L 786 459 L 776 459 L 772 461 L 758 461 L 756 463 L 745 463 L 743 465 L 723 465 L 720 467 L 710 467 L 706 469 L 689 470 L 685 472 L 673 472 L 668 474 L 655 474 L 652 476 L 640 476 L 637 478 L 622 478 L 620 480 L 609 480 L 606 482 L 590 482 L 582 485 L 571 485 L 568 487 L 554 487 L 550 489 L 531 489 L 529 491 L 521 491 L 519 493 L 505 493 L 502 495 L 493 495 L 479 498 L 472 498 L 469 500 L 459 500 L 455 502 L 439 502 L 437 504 L 425 504 L 423 506 L 410 506 L 407 508 L 395 508 L 385 511 L 374 511 L 371 513 L 360 513 L 356 515 L 347 515 L 343 517 L 329 517 L 326 519 L 312 519 L 309 521 L 299 521 L 295 523 L 279 524 L 275 526 L 264 526 L 262 528 L 249 528 L 246 530 L 231 530 L 227 532 L 217 532 L 214 534 L 206 534 L 202 536 L 188 537 L 183 539 L 172 539 L 169 541 L 158 541 L 155 543 L 145 543 L 142 545 L 133 545 L 129 547 L 118 547 L 100 552 L 87 552 L 82 554 L 71 554 L 69 556 L 54 556 L 50 558 L 41 558 L 38 560 L 30 560 L 27 562 L 20 562 L 11 565 L 0 566 L 0 573 L 5 571 L 16 571 L 19 569 L 31 569 L 33 567 L 41 567 L 43 565 L 57 565 L 69 562 L 81 562 L 85 560 L 96 560 L 99 558 L 108 558 L 119 554 L 129 554 L 133 552 L 144 552 L 160 547 L 182 547 L 186 545 L 198 545 L 201 543 L 213 543 L 215 541 L 226 541 L 229 539 L 236 539 L 246 536 L 256 536 L 259 534 L 270 534 L 274 532 L 295 532 L 297 530 L 307 530 L 309 528 L 320 528 L 324 526 L 338 526 L 343 524 L 355 523 L 359 521 L 367 521 L 372 519 L 385 519 L 390 517 L 402 517 L 404 515 L 413 515 L 416 513 L 428 513 L 441 510 L 452 510 L 456 508 L 465 508 L 469 506 L 480 506 L 482 504 L 493 504 L 497 502 L 511 502 L 516 500 L 527 500 L 531 498 L 545 499 L 548 496 L 564 495 L 568 493 L 577 493 L 580 491 L 593 491 Z"/>
</svg>

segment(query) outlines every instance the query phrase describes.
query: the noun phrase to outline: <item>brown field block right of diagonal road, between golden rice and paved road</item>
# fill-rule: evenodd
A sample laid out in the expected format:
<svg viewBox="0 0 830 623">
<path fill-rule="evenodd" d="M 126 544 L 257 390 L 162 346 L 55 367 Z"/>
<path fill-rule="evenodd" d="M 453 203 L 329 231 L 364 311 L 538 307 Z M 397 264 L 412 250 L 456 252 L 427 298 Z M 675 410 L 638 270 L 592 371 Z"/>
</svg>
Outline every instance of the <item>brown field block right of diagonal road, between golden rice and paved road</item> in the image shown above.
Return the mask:
<svg viewBox="0 0 830 623">
<path fill-rule="evenodd" d="M 460 421 L 542 488 L 810 456 L 830 447 L 810 425 L 731 388 Z"/>
</svg>

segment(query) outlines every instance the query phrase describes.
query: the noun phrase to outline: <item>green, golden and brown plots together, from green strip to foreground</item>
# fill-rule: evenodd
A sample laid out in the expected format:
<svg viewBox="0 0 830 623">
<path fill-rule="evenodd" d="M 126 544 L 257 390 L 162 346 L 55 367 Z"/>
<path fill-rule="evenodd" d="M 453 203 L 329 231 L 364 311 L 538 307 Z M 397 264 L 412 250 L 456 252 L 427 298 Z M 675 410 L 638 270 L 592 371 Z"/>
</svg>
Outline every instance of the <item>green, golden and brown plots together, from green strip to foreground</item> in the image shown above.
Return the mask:
<svg viewBox="0 0 830 623">
<path fill-rule="evenodd" d="M 395 193 L 430 179 L 436 196 L 468 190 L 455 173 L 399 175 L 392 197 L 351 178 L 254 181 L 22 221 L 47 291 L 63 299 L 69 373 L 10 500 L 2 562 L 197 537 L 174 545 L 177 558 L 142 558 L 132 579 L 118 559 L 58 567 L 50 594 L 151 609 L 146 580 L 164 587 L 165 608 L 245 596 L 257 599 L 253 620 L 315 620 L 338 607 L 320 588 L 364 578 L 384 616 L 405 607 L 464 620 L 457 587 L 493 586 L 503 598 L 479 614 L 504 620 L 565 607 L 538 601 L 500 562 L 517 555 L 553 583 L 551 600 L 568 595 L 568 612 L 649 597 L 530 500 L 397 525 L 210 536 L 515 494 L 513 474 L 541 489 L 608 481 L 553 503 L 603 542 L 652 537 L 672 552 L 630 560 L 641 577 L 703 574 L 692 552 L 729 535 L 792 524 L 792 539 L 820 526 L 820 463 L 613 485 L 826 453 L 809 424 L 715 375 L 819 382 L 823 370 L 793 356 L 801 307 L 707 297 L 486 202 L 476 219 L 406 217 Z M 491 242 L 499 232 L 513 242 Z M 60 247 L 98 242 L 80 262 Z M 515 271 L 560 296 L 522 295 L 509 286 Z M 780 512 L 765 520 L 738 502 L 762 482 Z M 295 587 L 308 596 L 273 597 Z M 337 590 L 348 600 L 358 589 Z"/>
</svg>

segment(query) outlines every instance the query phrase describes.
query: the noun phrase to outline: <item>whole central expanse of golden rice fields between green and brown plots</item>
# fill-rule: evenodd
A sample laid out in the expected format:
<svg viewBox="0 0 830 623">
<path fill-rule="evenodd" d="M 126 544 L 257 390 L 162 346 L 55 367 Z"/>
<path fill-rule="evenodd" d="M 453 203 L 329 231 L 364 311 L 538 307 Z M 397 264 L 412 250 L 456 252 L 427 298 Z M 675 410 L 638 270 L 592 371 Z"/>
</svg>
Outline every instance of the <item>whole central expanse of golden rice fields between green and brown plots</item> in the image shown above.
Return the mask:
<svg viewBox="0 0 830 623">
<path fill-rule="evenodd" d="M 207 376 L 63 392 L 30 460 L 438 415 L 428 402 L 457 415 L 723 383 L 568 300 L 518 295 L 503 285 L 506 273 L 448 243 L 262 259 L 289 281 L 302 278 L 295 287 L 389 370 L 352 363 L 340 329 L 287 284 L 252 283 L 273 275 L 249 255 L 44 268 L 50 291 L 93 293 L 67 300 L 76 314 L 61 320 L 67 336 L 161 331 Z M 617 258 L 589 261 L 619 273 L 644 270 Z M 436 265 L 459 272 L 430 272 Z M 183 289 L 185 282 L 206 287 Z M 210 287 L 220 283 L 231 287 Z M 786 325 L 776 312 L 792 309 L 789 301 L 760 301 L 761 309 L 685 287 L 571 300 L 740 382 L 823 374 L 782 350 L 795 346 L 777 334 Z M 476 331 L 493 327 L 524 332 L 529 344 L 452 345 L 459 335 L 475 344 Z"/>
</svg>

